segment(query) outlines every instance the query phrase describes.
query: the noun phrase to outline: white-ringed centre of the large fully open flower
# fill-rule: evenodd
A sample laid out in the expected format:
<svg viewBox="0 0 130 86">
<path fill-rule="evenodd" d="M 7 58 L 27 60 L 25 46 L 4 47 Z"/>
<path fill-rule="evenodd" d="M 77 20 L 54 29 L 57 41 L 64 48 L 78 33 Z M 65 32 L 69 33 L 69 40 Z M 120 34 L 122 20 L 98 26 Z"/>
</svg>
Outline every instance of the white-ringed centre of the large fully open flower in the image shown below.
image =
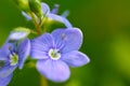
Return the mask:
<svg viewBox="0 0 130 86">
<path fill-rule="evenodd" d="M 61 54 L 58 53 L 58 49 L 50 49 L 49 51 L 49 56 L 51 57 L 51 59 L 53 60 L 57 60 L 61 58 Z"/>
</svg>

